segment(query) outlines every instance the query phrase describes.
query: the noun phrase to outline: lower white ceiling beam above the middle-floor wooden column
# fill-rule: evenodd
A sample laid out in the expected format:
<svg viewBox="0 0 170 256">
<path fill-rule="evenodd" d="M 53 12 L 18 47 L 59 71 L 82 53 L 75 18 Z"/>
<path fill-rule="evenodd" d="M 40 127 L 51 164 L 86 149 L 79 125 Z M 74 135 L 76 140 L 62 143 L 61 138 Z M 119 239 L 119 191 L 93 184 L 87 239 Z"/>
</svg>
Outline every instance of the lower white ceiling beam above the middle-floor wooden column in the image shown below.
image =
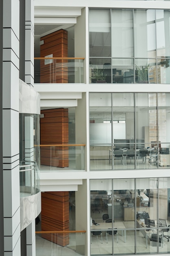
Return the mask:
<svg viewBox="0 0 170 256">
<path fill-rule="evenodd" d="M 68 108 L 68 107 L 77 107 L 77 100 L 41 100 L 40 107 L 50 107 L 50 108 Z"/>
</svg>

